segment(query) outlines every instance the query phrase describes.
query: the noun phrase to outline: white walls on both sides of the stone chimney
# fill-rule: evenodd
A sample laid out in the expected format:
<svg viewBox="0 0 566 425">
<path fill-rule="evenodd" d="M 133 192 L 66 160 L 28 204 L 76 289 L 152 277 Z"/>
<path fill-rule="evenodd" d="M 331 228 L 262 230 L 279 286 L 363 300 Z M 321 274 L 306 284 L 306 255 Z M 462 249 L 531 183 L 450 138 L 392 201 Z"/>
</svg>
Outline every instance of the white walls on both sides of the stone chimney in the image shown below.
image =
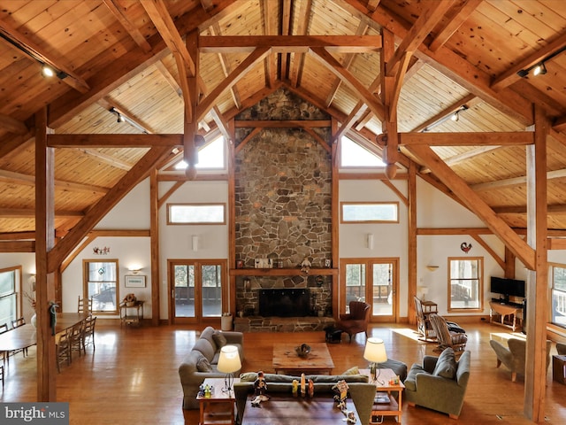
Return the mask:
<svg viewBox="0 0 566 425">
<path fill-rule="evenodd" d="M 160 197 L 172 187 L 173 182 L 159 184 Z M 394 181 L 403 194 L 407 193 L 407 182 Z M 398 201 L 397 195 L 385 184 L 378 181 L 341 181 L 340 201 Z M 169 203 L 222 202 L 227 204 L 227 182 L 186 182 L 172 197 Z M 417 180 L 417 227 L 419 228 L 485 228 L 481 220 L 462 205 L 426 182 Z M 226 215 L 228 211 L 226 209 Z M 226 222 L 228 217 L 226 216 Z M 407 207 L 400 202 L 400 222 L 395 224 L 340 224 L 340 258 L 398 257 L 400 259 L 400 315 L 408 312 L 408 232 Z M 166 224 L 166 205 L 159 210 L 160 243 L 160 319 L 168 317 L 167 259 L 227 259 L 228 229 L 226 225 L 213 226 L 168 226 Z M 135 187 L 106 217 L 96 226 L 97 229 L 144 229 L 149 230 L 149 180 Z M 366 247 L 365 236 L 374 235 L 372 250 Z M 192 250 L 192 236 L 199 236 L 198 251 Z M 504 256 L 503 243 L 496 236 L 482 236 L 493 251 Z M 447 258 L 462 257 L 461 243 L 471 243 L 468 255 L 484 257 L 485 306 L 492 297 L 489 290 L 489 276 L 502 275 L 501 267 L 479 243 L 470 236 L 417 236 L 417 285 L 429 288 L 427 299 L 439 304 L 440 313 L 447 312 Z M 107 246 L 111 249 L 105 256 L 95 255 L 93 247 Z M 144 299 L 144 317 L 151 317 L 151 274 L 149 237 L 101 237 L 90 243 L 63 274 L 63 302 L 65 311 L 75 311 L 77 298 L 82 296 L 83 259 L 119 260 L 119 299 L 126 293 L 134 292 Z M 549 251 L 549 261 L 566 263 L 566 251 Z M 141 265 L 147 276 L 144 289 L 129 289 L 124 286 L 124 276 L 128 267 Z M 0 253 L 0 268 L 23 267 L 23 281 L 27 282 L 34 272 L 34 254 Z M 426 266 L 439 268 L 431 272 Z M 228 265 L 232 267 L 232 265 Z M 516 278 L 526 279 L 526 271 L 520 262 L 516 265 Z M 31 316 L 32 310 L 24 304 L 24 315 Z M 488 308 L 484 309 L 488 313 Z M 28 319 L 28 317 L 27 317 Z"/>
</svg>

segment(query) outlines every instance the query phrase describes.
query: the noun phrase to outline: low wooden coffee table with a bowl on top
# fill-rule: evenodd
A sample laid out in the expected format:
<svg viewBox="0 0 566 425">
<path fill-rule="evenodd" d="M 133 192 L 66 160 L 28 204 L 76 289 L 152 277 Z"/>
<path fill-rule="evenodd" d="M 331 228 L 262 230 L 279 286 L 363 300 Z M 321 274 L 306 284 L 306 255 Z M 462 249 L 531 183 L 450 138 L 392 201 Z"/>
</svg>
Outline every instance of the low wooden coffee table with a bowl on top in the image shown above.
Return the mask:
<svg viewBox="0 0 566 425">
<path fill-rule="evenodd" d="M 273 344 L 273 368 L 275 373 L 298 371 L 305 373 L 325 372 L 332 374 L 333 358 L 324 343 L 309 344 L 310 353 L 306 358 L 299 357 L 291 344 Z"/>
</svg>

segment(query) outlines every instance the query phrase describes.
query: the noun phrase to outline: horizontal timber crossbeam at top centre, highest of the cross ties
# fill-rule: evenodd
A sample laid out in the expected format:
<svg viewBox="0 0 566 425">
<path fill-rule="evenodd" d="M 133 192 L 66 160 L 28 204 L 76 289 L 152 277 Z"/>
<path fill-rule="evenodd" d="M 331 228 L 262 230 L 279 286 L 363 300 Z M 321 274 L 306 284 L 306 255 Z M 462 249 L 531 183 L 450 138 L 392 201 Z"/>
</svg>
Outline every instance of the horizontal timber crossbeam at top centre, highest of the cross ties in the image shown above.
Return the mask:
<svg viewBox="0 0 566 425">
<path fill-rule="evenodd" d="M 368 53 L 381 49 L 379 35 L 222 35 L 199 37 L 202 53 L 249 53 L 269 47 L 276 53 L 307 53 L 324 47 L 333 53 Z"/>
</svg>

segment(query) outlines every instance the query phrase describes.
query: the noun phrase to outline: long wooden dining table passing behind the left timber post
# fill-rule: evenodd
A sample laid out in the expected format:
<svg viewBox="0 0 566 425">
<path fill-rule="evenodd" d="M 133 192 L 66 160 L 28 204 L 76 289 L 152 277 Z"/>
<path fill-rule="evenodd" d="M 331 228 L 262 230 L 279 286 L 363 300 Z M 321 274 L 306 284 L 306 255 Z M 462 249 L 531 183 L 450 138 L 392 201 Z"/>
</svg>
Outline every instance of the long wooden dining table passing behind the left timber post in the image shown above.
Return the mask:
<svg viewBox="0 0 566 425">
<path fill-rule="evenodd" d="M 55 333 L 65 332 L 80 321 L 84 321 L 89 313 L 57 313 Z M 37 344 L 37 329 L 32 324 L 25 324 L 0 334 L 0 352 L 24 350 Z M 10 357 L 8 357 L 8 361 Z"/>
</svg>

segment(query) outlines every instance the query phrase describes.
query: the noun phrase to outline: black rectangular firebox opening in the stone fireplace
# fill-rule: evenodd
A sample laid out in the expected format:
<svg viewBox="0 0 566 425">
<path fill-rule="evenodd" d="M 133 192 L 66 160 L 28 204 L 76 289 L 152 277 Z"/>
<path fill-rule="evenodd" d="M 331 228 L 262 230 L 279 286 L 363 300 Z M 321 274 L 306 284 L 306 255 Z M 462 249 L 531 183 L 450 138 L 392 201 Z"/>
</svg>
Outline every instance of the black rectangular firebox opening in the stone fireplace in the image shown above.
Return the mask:
<svg viewBox="0 0 566 425">
<path fill-rule="evenodd" d="M 259 315 L 299 317 L 310 315 L 309 290 L 259 290 Z"/>
</svg>

